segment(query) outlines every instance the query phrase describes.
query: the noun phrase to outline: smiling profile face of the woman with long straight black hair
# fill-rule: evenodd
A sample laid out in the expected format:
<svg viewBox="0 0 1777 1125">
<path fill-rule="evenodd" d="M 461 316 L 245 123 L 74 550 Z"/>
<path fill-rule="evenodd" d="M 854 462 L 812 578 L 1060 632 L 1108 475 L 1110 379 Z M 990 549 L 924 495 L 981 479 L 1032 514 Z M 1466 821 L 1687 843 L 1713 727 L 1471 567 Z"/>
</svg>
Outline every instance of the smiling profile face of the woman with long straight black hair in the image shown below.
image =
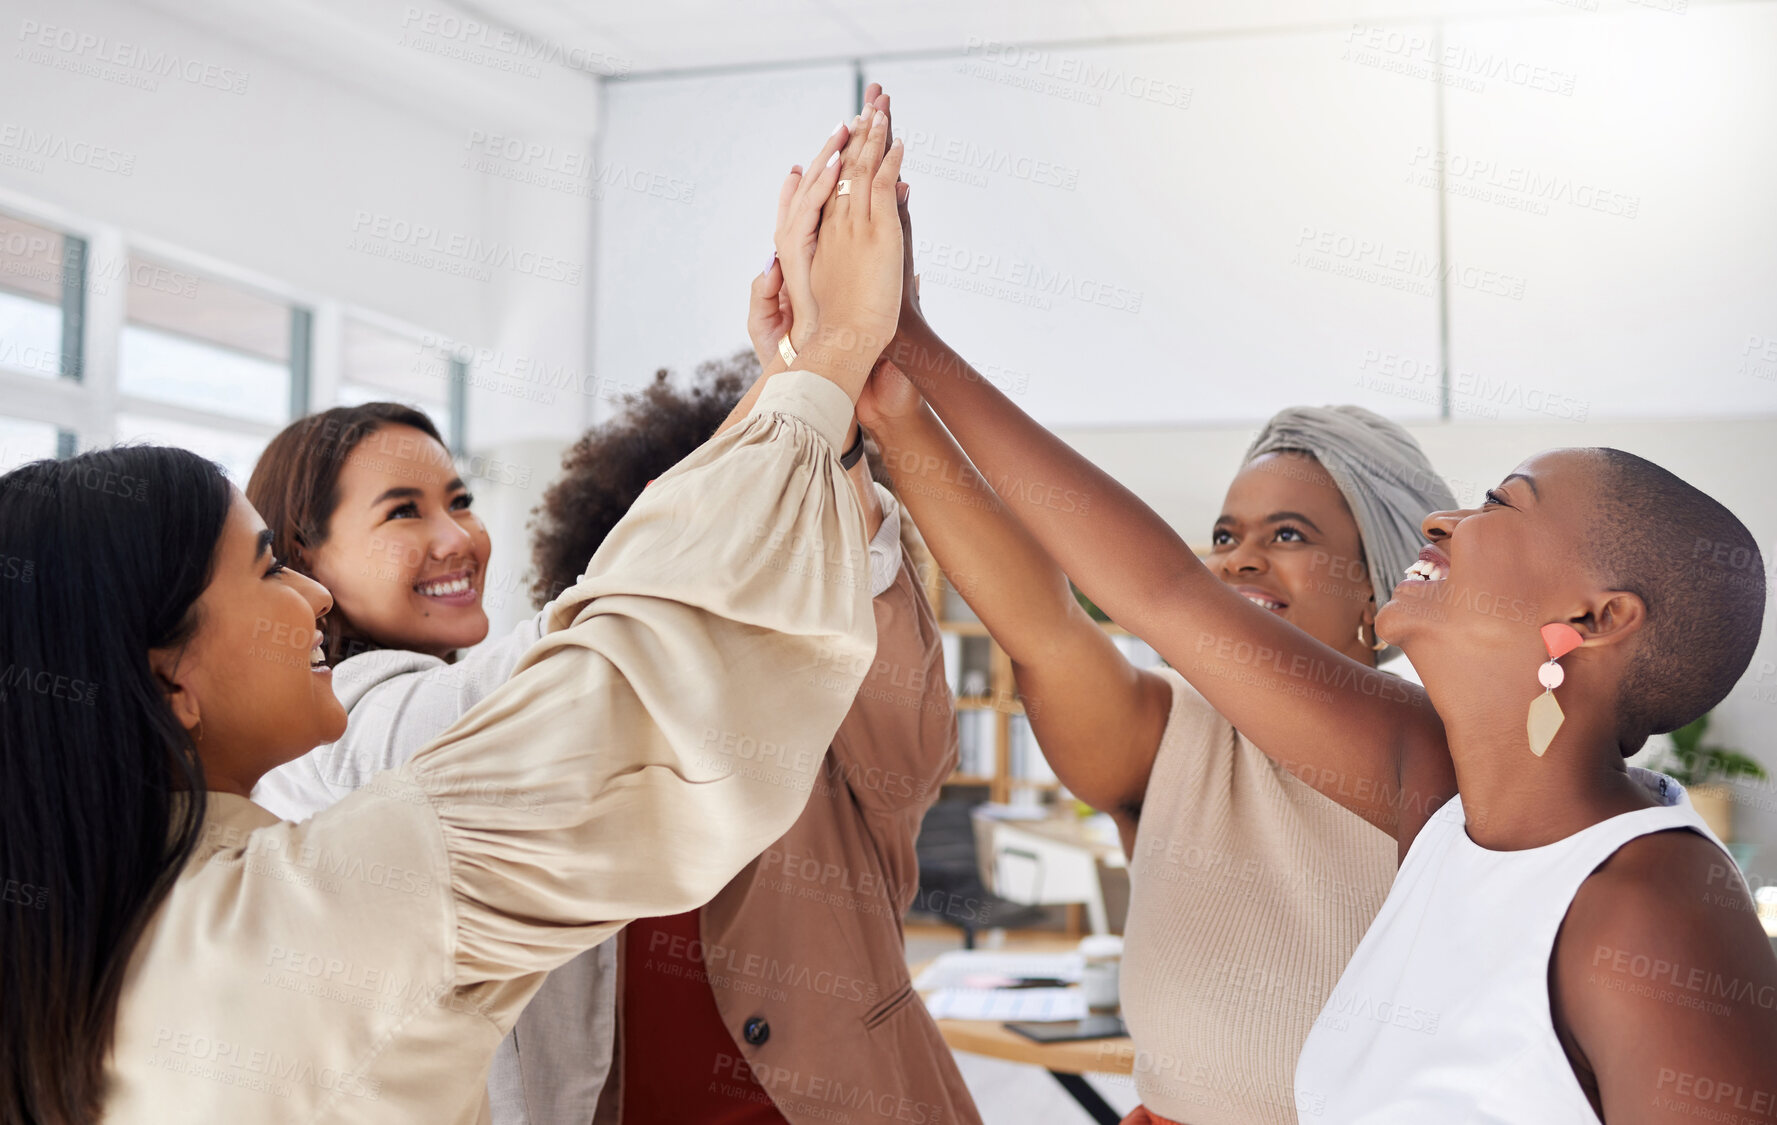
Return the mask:
<svg viewBox="0 0 1777 1125">
<path fill-rule="evenodd" d="M 345 734 L 332 670 L 316 650 L 332 599 L 272 558 L 270 535 L 236 491 L 195 602 L 197 631 L 151 654 L 178 686 L 169 698 L 197 738 L 210 787 L 242 796 L 268 770 Z"/>
</svg>

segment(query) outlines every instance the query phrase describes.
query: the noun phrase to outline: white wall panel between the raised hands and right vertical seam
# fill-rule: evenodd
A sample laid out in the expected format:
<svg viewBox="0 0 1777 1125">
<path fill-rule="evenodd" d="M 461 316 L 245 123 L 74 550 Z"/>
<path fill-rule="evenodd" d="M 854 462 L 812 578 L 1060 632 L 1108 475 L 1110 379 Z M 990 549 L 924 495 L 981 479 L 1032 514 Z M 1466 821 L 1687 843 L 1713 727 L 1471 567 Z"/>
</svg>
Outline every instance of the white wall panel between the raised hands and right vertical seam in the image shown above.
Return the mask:
<svg viewBox="0 0 1777 1125">
<path fill-rule="evenodd" d="M 1311 32 L 869 66 L 910 146 L 928 318 L 1072 425 L 1265 416 L 1326 395 L 1329 357 L 1434 352 L 1429 297 L 1317 268 L 1338 261 L 1322 238 L 1436 247 L 1434 199 L 1384 158 L 1430 142 L 1430 87 L 1340 50 Z"/>
</svg>

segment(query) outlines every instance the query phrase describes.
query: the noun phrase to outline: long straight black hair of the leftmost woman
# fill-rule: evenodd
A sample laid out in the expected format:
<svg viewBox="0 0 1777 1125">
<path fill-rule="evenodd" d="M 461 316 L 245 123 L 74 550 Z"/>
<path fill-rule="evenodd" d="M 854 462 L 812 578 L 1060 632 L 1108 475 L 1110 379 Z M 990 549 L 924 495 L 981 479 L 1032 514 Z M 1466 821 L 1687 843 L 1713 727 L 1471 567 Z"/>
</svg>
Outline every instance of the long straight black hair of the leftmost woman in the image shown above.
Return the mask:
<svg viewBox="0 0 1777 1125">
<path fill-rule="evenodd" d="M 0 476 L 0 1120 L 100 1116 L 130 951 L 204 775 L 149 668 L 195 633 L 222 471 L 126 446 Z"/>
</svg>

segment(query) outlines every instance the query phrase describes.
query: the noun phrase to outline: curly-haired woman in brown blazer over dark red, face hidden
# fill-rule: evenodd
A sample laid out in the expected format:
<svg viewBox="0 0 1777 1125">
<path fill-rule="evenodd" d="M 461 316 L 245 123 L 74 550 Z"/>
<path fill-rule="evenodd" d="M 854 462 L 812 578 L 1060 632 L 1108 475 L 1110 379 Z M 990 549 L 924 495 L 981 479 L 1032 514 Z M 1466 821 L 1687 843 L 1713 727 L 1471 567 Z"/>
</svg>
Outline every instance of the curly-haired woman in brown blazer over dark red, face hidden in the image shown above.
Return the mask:
<svg viewBox="0 0 1777 1125">
<path fill-rule="evenodd" d="M 755 309 L 778 275 L 773 265 L 755 281 Z M 784 366 L 775 350 L 762 354 Z M 759 371 L 752 354 L 705 363 L 684 386 L 659 371 L 569 448 L 531 521 L 537 604 L 574 585 L 649 482 L 707 441 Z M 809 805 L 707 906 L 631 922 L 617 938 L 615 986 L 569 974 L 544 981 L 517 1027 L 533 1121 L 800 1125 L 830 1120 L 839 1097 L 869 1111 L 858 1120 L 892 1121 L 917 1104 L 919 1120 L 979 1121 L 912 988 L 901 935 L 919 889 L 913 839 L 956 766 L 940 634 L 899 544 L 897 501 L 869 462 L 849 475 L 873 531 L 858 570 L 874 595 L 876 658 Z M 816 544 L 793 565 L 848 562 Z M 611 993 L 615 1033 L 604 1033 Z M 610 1077 L 586 1114 L 579 1075 L 608 1052 Z M 810 1075 L 832 1093 L 810 1097 Z M 569 1113 L 549 1116 L 558 1107 Z"/>
</svg>

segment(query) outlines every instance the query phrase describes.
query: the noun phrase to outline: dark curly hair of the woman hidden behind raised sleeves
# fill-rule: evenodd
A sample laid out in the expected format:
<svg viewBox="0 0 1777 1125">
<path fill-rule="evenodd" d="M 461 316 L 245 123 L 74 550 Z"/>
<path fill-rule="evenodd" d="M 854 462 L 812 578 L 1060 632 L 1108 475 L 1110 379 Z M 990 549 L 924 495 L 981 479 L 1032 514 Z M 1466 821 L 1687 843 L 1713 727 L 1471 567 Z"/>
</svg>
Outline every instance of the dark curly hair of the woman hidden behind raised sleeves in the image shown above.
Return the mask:
<svg viewBox="0 0 1777 1125">
<path fill-rule="evenodd" d="M 661 368 L 645 391 L 624 396 L 615 418 L 586 430 L 562 455 L 562 476 L 530 523 L 537 608 L 579 581 L 641 489 L 709 441 L 755 379 L 759 359 L 752 352 L 700 363 L 684 387 Z"/>
</svg>

